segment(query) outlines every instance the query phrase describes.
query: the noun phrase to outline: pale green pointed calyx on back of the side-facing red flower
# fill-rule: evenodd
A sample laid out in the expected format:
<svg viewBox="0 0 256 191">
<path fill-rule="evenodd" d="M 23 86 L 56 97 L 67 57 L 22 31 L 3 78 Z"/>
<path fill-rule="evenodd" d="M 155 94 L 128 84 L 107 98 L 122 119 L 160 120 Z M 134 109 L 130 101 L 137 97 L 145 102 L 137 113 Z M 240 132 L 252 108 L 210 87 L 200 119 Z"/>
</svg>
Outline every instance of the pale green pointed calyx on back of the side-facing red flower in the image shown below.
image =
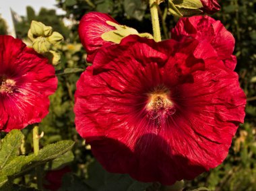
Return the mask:
<svg viewBox="0 0 256 191">
<path fill-rule="evenodd" d="M 148 33 L 139 34 L 139 32 L 137 32 L 137 30 L 135 30 L 134 28 L 115 24 L 114 22 L 106 21 L 106 24 L 116 28 L 116 30 L 110 30 L 102 34 L 101 38 L 108 42 L 114 42 L 116 44 L 119 44 L 123 38 L 131 34 L 135 34 L 141 37 L 146 37 L 151 39 L 153 38 L 151 34 L 148 34 Z"/>
</svg>

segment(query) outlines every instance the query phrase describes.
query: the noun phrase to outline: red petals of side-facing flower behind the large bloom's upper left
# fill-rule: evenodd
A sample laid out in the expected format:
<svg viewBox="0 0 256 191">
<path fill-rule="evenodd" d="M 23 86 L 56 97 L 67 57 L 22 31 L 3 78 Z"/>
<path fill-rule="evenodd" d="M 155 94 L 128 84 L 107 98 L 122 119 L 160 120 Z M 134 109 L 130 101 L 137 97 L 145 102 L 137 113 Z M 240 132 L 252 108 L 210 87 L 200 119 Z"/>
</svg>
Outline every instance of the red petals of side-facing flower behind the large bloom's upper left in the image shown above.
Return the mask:
<svg viewBox="0 0 256 191">
<path fill-rule="evenodd" d="M 115 30 L 115 27 L 108 25 L 106 21 L 118 24 L 110 15 L 98 12 L 87 13 L 80 20 L 78 33 L 84 48 L 86 48 L 88 63 L 92 63 L 98 48 L 114 44 L 101 38 L 105 32 Z"/>
</svg>

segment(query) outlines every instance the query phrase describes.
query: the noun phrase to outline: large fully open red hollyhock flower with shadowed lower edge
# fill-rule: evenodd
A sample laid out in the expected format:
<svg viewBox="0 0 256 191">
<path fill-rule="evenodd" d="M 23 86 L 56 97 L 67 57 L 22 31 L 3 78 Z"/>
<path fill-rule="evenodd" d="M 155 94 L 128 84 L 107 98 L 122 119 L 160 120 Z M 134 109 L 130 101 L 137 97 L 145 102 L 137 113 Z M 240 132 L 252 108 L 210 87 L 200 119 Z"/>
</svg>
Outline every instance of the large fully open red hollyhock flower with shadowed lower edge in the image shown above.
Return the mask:
<svg viewBox="0 0 256 191">
<path fill-rule="evenodd" d="M 110 172 L 173 184 L 214 168 L 245 117 L 245 93 L 209 43 L 128 36 L 102 47 L 75 92 L 77 132 Z"/>
</svg>

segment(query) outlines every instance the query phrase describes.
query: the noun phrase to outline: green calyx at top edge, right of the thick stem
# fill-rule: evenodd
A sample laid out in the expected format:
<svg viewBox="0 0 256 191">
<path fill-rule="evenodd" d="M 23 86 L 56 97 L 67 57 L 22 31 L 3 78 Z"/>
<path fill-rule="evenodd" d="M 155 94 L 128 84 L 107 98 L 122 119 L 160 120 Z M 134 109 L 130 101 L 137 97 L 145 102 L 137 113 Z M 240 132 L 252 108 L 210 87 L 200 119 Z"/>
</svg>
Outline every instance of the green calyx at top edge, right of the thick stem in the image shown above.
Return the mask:
<svg viewBox="0 0 256 191">
<path fill-rule="evenodd" d="M 200 0 L 168 0 L 168 11 L 177 17 L 187 17 L 202 13 Z"/>
</svg>

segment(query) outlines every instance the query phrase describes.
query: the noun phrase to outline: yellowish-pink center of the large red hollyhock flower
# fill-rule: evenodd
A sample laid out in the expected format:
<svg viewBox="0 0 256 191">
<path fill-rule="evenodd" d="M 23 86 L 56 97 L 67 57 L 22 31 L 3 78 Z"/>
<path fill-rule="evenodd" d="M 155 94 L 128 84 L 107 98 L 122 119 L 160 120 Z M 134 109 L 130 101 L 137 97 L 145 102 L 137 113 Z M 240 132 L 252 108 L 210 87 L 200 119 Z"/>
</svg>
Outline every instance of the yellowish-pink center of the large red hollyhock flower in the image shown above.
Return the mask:
<svg viewBox="0 0 256 191">
<path fill-rule="evenodd" d="M 166 119 L 176 112 L 172 100 L 170 100 L 170 90 L 164 86 L 156 87 L 154 91 L 148 93 L 148 104 L 146 105 L 148 117 L 151 119 Z"/>
</svg>

